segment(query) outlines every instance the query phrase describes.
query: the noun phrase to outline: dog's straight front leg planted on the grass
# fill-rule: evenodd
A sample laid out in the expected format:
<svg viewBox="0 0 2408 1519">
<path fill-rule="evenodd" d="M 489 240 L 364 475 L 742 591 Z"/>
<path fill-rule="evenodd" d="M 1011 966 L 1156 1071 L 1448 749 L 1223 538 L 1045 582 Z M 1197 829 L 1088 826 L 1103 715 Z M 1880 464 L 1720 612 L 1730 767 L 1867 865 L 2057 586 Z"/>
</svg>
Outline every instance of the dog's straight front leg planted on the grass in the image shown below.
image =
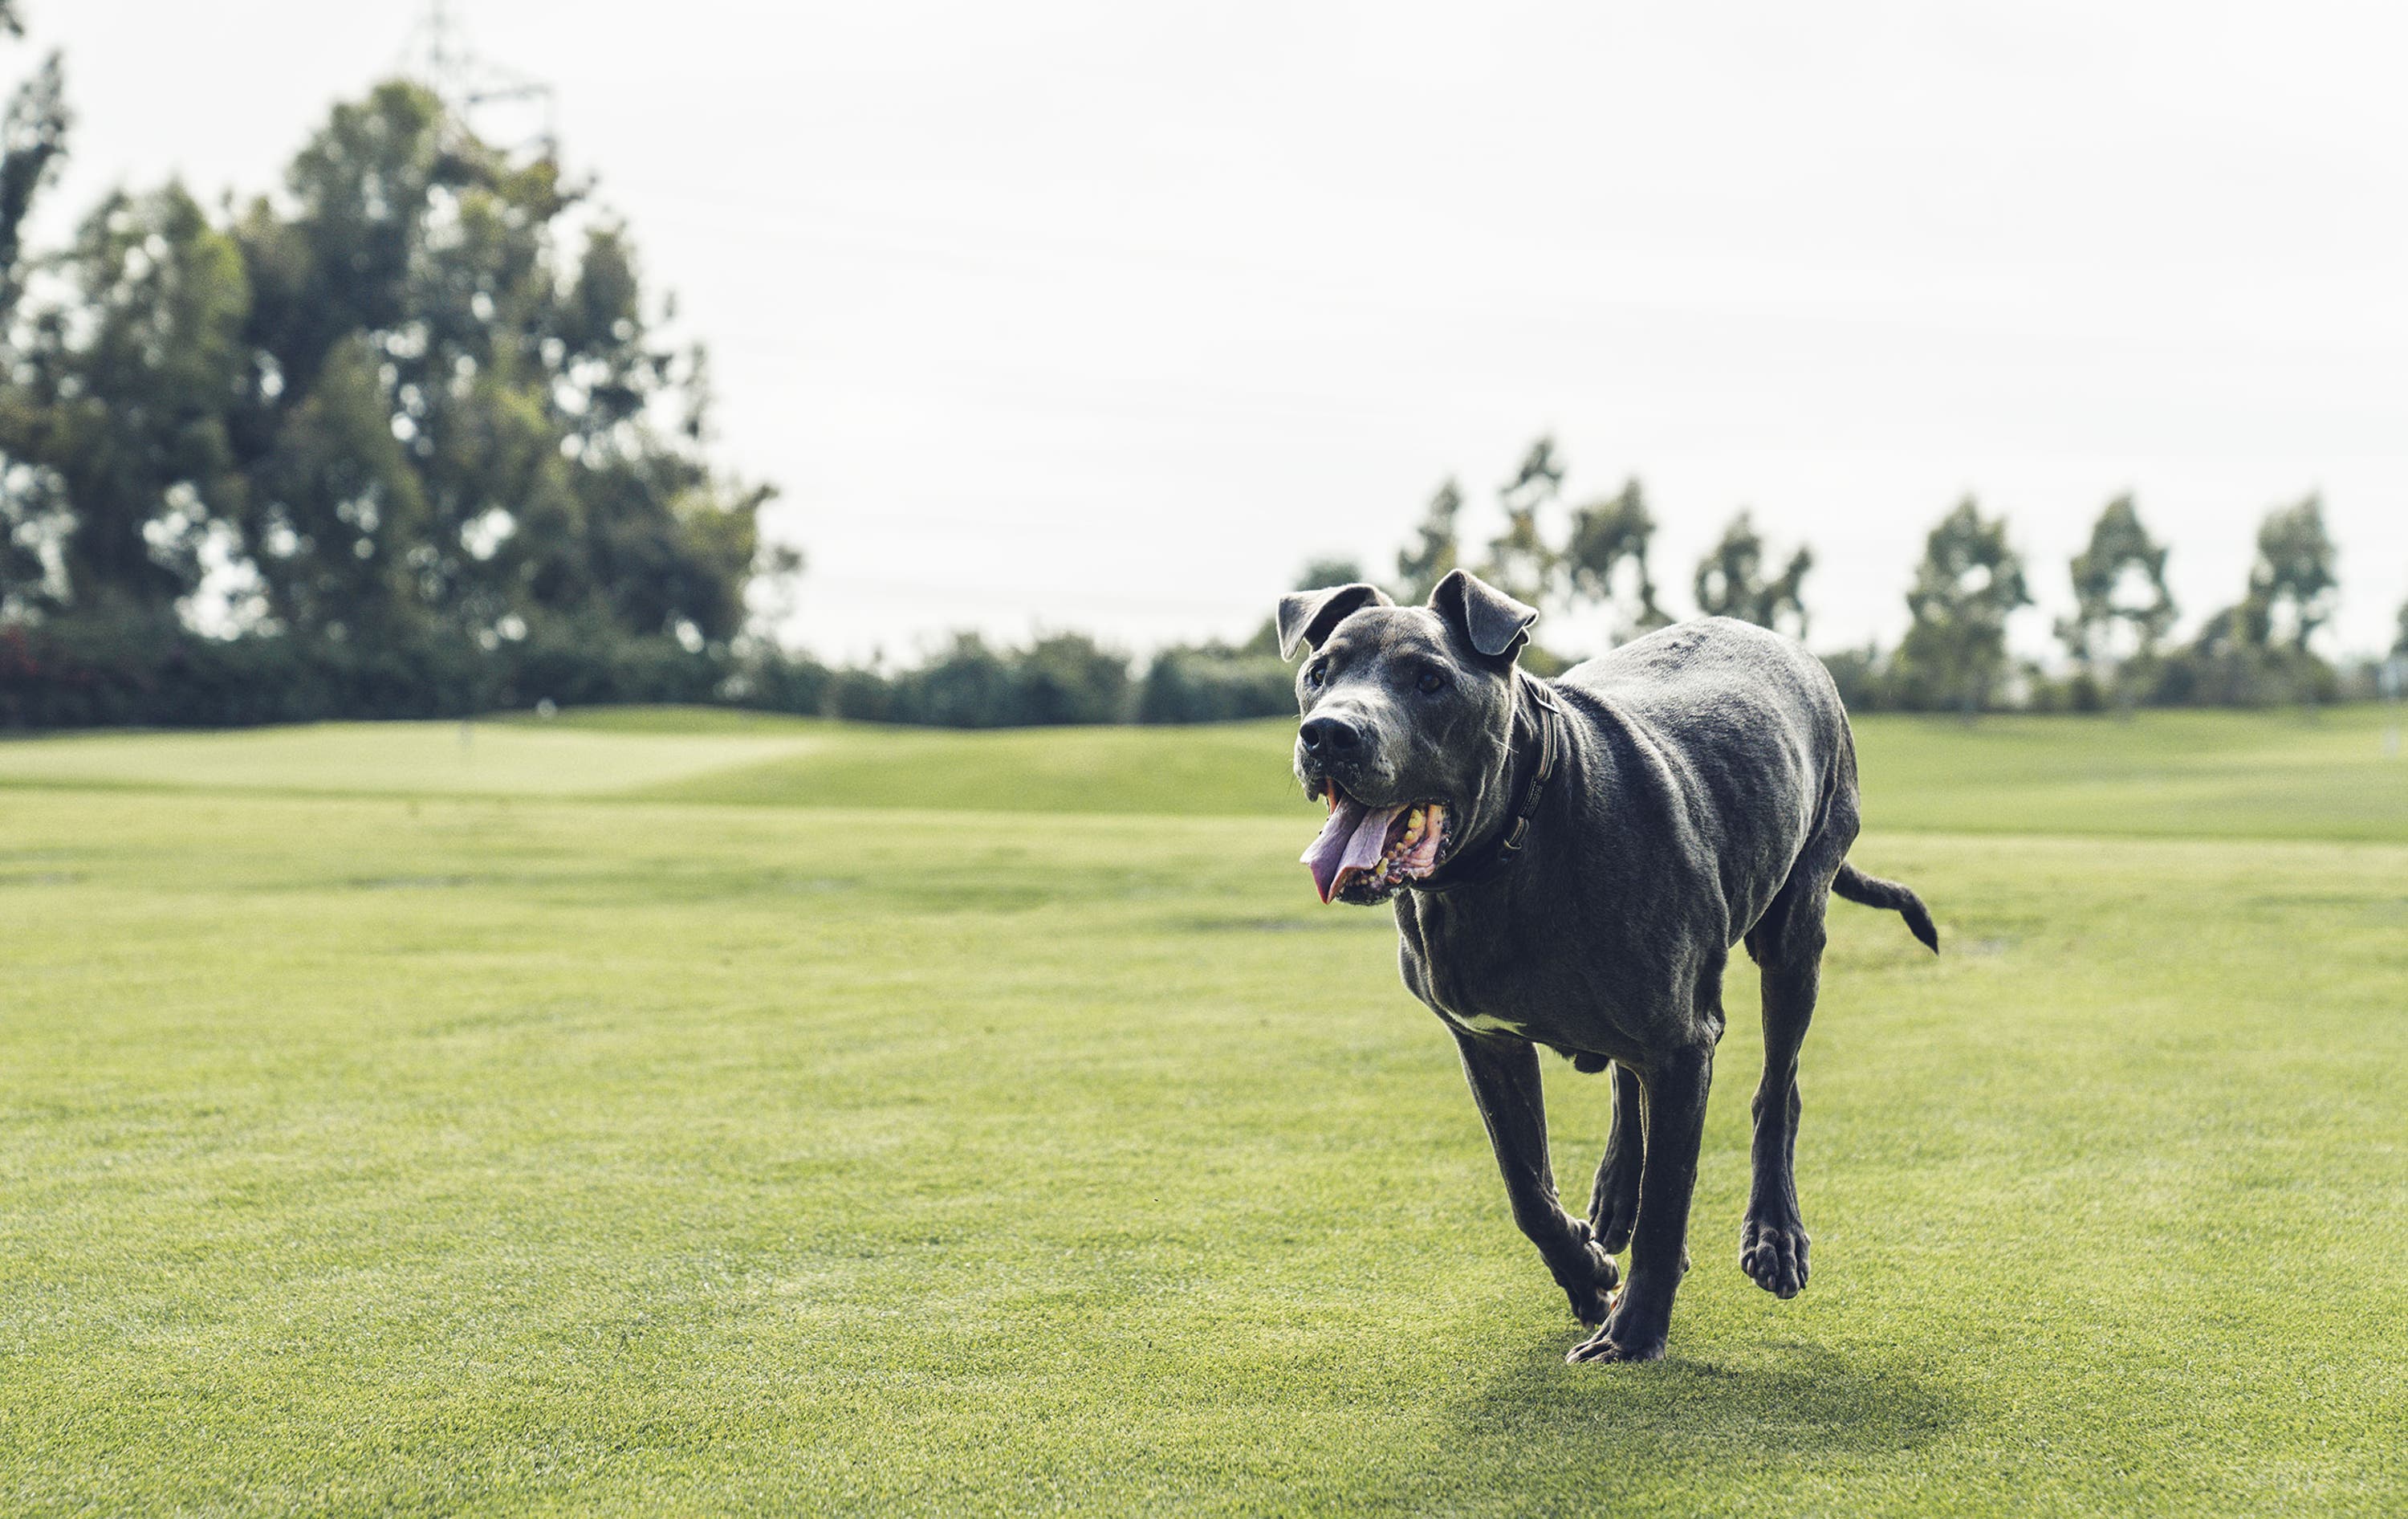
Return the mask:
<svg viewBox="0 0 2408 1519">
<path fill-rule="evenodd" d="M 1688 1269 L 1688 1199 L 1698 1189 L 1714 1050 L 1674 1052 L 1652 1062 L 1640 1081 L 1647 1083 L 1647 1160 L 1640 1165 L 1630 1285 L 1613 1300 L 1606 1326 L 1575 1346 L 1568 1360 L 1659 1360 L 1671 1331 L 1671 1300 Z"/>
</svg>

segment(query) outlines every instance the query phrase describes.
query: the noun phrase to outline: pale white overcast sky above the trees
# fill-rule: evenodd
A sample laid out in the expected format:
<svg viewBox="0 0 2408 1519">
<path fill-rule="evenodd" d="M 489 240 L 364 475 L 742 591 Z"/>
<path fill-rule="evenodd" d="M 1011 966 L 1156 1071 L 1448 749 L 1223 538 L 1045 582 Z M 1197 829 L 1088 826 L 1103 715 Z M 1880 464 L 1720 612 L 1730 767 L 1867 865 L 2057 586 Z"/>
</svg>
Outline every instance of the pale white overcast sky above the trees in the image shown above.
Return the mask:
<svg viewBox="0 0 2408 1519">
<path fill-rule="evenodd" d="M 421 10 L 26 5 L 53 238 L 270 188 Z M 1647 481 L 1676 609 L 1743 503 L 1813 544 L 1825 648 L 1898 636 L 1965 491 L 2028 648 L 2124 489 L 2184 628 L 2309 489 L 2336 648 L 2408 597 L 2398 7 L 460 5 L 713 347 L 824 655 L 1243 636 L 1544 428 L 1572 498 Z"/>
</svg>

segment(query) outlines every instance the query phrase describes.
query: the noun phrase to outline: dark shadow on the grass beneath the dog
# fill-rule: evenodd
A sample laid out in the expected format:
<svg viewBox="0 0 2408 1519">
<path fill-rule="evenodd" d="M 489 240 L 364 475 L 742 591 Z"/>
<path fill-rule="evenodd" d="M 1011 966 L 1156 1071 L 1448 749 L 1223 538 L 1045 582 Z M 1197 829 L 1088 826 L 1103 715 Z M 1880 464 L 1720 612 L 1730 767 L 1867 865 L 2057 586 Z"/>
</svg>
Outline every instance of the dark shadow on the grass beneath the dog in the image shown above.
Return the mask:
<svg viewBox="0 0 2408 1519">
<path fill-rule="evenodd" d="M 1563 1363 L 1572 1343 L 1531 1346 L 1471 1389 L 1454 1408 L 1459 1449 L 1491 1466 L 1618 1473 L 1637 1485 L 1712 1468 L 1746 1480 L 1910 1452 L 1965 1418 L 1895 1363 L 1804 1341 L 1763 1341 L 1729 1360 L 1683 1358 L 1676 1341 L 1657 1365 L 1577 1367 Z"/>
</svg>

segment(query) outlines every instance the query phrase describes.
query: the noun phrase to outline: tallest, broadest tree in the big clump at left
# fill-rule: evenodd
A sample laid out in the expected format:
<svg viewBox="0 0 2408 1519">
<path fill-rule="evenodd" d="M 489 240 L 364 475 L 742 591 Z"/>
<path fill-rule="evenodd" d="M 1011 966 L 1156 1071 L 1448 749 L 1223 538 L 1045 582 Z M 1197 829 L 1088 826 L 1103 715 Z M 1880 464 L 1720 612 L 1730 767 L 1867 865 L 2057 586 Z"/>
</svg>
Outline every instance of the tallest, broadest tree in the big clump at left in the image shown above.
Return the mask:
<svg viewBox="0 0 2408 1519">
<path fill-rule="evenodd" d="M 491 633 L 588 616 L 633 633 L 725 640 L 744 621 L 761 486 L 715 477 L 698 351 L 650 339 L 633 246 L 614 221 L 561 246 L 583 190 L 549 156 L 510 161 L 414 84 L 337 106 L 287 176 L 287 214 L 255 202 L 241 238 L 258 277 L 255 441 L 308 486 L 323 428 L 373 376 L 402 467 L 361 481 L 417 513 L 397 611 Z M 327 395 L 323 385 L 335 385 Z M 349 424 L 340 424 L 349 431 Z M 246 522 L 272 597 L 383 558 L 376 501 L 262 493 Z M 340 626 L 340 623 L 337 623 Z"/>
</svg>

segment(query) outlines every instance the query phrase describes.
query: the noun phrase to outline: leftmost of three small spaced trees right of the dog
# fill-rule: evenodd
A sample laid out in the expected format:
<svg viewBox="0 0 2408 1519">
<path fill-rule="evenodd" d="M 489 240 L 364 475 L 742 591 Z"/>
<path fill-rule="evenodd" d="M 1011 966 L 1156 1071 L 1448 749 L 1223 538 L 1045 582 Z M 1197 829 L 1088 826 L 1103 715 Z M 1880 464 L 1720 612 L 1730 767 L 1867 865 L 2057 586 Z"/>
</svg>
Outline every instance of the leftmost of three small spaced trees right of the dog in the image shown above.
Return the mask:
<svg viewBox="0 0 2408 1519">
<path fill-rule="evenodd" d="M 1967 717 L 1989 705 L 2006 674 L 2006 619 L 2030 604 L 2006 518 L 1984 518 L 1967 496 L 1924 539 L 1907 590 L 1914 623 L 1898 645 L 1898 674 L 1910 701 Z"/>
</svg>

